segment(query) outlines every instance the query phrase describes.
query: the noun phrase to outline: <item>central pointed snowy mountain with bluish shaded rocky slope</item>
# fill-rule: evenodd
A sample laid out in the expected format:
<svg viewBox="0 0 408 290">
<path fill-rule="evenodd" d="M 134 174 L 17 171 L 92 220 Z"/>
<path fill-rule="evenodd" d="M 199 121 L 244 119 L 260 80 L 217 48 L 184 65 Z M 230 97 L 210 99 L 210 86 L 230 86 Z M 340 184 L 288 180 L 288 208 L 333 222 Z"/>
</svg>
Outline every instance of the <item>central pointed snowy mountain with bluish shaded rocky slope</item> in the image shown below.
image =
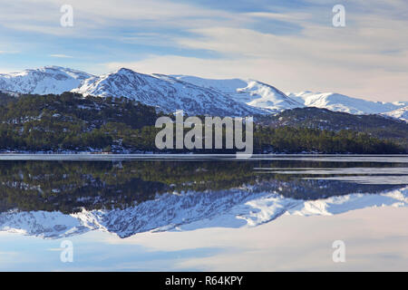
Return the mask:
<svg viewBox="0 0 408 290">
<path fill-rule="evenodd" d="M 188 114 L 219 116 L 246 116 L 265 113 L 242 102 L 234 101 L 228 94 L 200 87 L 162 74 L 136 73 L 121 68 L 117 72 L 93 77 L 72 92 L 102 97 L 126 97 L 162 111 L 183 110 Z"/>
</svg>

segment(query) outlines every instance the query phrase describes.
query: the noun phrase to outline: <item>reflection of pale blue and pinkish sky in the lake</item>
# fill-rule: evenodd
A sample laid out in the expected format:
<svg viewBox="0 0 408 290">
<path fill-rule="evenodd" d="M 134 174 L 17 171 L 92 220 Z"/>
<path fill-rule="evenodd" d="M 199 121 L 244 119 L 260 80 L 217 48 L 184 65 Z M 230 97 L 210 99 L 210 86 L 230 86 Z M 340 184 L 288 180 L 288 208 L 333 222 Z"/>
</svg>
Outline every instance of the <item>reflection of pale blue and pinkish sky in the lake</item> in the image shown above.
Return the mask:
<svg viewBox="0 0 408 290">
<path fill-rule="evenodd" d="M 145 232 L 92 231 L 63 239 L 0 232 L 2 271 L 407 271 L 408 208 L 334 216 L 282 216 L 257 227 Z M 294 238 L 296 237 L 296 238 Z M 60 259 L 64 240 L 73 262 Z M 345 242 L 345 263 L 333 242 Z"/>
</svg>

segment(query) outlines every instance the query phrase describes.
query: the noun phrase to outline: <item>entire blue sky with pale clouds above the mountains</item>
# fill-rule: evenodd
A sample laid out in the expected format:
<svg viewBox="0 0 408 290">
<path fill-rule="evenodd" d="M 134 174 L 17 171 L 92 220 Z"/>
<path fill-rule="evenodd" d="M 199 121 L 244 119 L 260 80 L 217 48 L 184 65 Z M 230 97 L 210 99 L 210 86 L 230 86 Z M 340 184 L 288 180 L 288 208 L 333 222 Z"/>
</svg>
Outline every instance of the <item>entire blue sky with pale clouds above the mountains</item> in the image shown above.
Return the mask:
<svg viewBox="0 0 408 290">
<path fill-rule="evenodd" d="M 0 0 L 0 73 L 126 67 L 408 101 L 407 32 L 406 0 Z"/>
</svg>

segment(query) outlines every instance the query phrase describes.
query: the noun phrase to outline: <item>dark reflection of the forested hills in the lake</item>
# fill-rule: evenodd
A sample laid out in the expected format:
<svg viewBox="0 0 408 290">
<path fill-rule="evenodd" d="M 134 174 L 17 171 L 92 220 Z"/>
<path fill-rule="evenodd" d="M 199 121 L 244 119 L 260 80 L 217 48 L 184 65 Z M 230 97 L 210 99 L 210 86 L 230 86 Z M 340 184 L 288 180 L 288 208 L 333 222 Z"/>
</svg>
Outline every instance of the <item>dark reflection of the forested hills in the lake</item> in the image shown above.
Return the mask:
<svg viewBox="0 0 408 290">
<path fill-rule="evenodd" d="M 287 198 L 316 199 L 393 185 L 363 185 L 263 174 L 254 168 L 393 167 L 384 163 L 276 161 L 1 161 L 0 209 L 126 208 L 169 191 L 223 190 L 256 185 Z"/>
</svg>

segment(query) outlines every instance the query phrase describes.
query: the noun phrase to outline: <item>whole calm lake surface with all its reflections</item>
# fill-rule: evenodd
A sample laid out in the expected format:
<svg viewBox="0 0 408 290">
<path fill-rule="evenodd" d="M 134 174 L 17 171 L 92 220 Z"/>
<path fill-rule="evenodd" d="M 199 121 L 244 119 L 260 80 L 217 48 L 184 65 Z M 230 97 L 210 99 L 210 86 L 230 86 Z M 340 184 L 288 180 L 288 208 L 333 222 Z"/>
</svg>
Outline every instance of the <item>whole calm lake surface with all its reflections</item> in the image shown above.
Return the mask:
<svg viewBox="0 0 408 290">
<path fill-rule="evenodd" d="M 0 270 L 408 270 L 407 205 L 401 155 L 2 154 Z"/>
</svg>

